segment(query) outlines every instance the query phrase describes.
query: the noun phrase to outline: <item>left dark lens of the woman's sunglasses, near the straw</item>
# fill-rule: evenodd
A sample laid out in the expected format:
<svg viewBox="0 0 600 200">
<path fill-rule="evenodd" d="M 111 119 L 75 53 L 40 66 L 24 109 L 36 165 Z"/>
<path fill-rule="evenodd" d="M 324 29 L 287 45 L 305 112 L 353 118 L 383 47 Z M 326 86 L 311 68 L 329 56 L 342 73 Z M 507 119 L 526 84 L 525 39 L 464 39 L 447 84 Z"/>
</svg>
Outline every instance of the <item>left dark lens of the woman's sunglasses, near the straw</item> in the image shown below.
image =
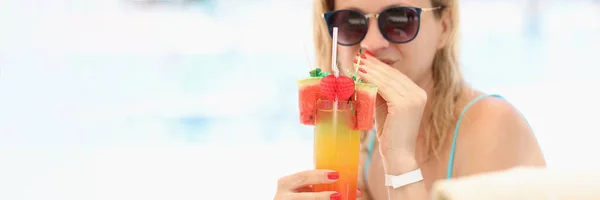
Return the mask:
<svg viewBox="0 0 600 200">
<path fill-rule="evenodd" d="M 330 33 L 333 33 L 333 27 L 338 27 L 338 44 L 353 45 L 367 33 L 367 20 L 359 12 L 341 10 L 329 17 L 327 27 Z"/>
</svg>

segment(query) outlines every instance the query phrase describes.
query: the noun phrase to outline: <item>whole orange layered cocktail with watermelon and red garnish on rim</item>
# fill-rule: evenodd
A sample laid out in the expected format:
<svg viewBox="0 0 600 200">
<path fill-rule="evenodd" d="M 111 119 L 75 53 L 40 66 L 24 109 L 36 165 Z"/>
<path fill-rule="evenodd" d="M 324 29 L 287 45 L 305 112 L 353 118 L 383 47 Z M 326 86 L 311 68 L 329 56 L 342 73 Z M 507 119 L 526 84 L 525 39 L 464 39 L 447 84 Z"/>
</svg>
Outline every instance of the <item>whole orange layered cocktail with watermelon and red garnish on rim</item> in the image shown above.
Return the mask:
<svg viewBox="0 0 600 200">
<path fill-rule="evenodd" d="M 355 200 L 360 134 L 373 128 L 377 87 L 319 73 L 299 81 L 300 121 L 315 126 L 315 168 L 334 170 L 339 179 L 313 185 L 313 190 L 337 191 L 342 200 Z"/>
</svg>

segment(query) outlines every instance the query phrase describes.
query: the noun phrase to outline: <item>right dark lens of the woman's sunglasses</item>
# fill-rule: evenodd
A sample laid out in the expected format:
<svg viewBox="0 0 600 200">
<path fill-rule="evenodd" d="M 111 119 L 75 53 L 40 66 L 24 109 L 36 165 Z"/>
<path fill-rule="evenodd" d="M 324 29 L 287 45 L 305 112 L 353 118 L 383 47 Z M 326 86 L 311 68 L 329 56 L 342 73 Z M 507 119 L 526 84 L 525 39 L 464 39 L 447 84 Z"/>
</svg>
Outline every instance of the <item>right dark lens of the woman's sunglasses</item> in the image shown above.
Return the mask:
<svg viewBox="0 0 600 200">
<path fill-rule="evenodd" d="M 379 16 L 381 33 L 392 42 L 403 43 L 415 38 L 419 15 L 410 8 L 391 8 Z"/>
</svg>

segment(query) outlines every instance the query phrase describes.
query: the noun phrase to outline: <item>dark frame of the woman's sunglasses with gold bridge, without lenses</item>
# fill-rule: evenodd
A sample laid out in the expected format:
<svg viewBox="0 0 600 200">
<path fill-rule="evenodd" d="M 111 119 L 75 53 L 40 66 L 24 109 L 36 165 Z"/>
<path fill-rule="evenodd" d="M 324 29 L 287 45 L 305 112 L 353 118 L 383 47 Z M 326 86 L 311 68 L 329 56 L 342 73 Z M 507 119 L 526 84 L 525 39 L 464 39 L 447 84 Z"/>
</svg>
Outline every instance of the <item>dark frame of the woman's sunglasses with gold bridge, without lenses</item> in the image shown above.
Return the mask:
<svg viewBox="0 0 600 200">
<path fill-rule="evenodd" d="M 417 13 L 417 17 L 419 19 L 419 21 L 417 22 L 418 23 L 417 24 L 417 31 L 415 32 L 415 35 L 413 35 L 410 39 L 408 39 L 406 41 L 401 41 L 401 42 L 393 41 L 386 34 L 384 34 L 383 31 L 381 30 L 381 21 L 379 21 L 379 15 L 381 15 L 381 13 L 384 13 L 384 12 L 386 12 L 388 10 L 391 10 L 391 9 L 398 9 L 398 8 L 409 9 L 409 10 L 412 10 L 412 11 L 416 12 Z M 375 17 L 375 19 L 377 19 L 377 25 L 379 26 L 379 33 L 383 36 L 383 38 L 385 38 L 387 41 L 389 41 L 391 43 L 404 44 L 404 43 L 409 43 L 409 42 L 413 41 L 417 37 L 417 35 L 419 34 L 419 30 L 421 29 L 421 13 L 422 12 L 435 11 L 435 10 L 442 9 L 442 8 L 443 8 L 442 6 L 433 7 L 433 8 L 419 8 L 419 7 L 413 7 L 413 6 L 393 6 L 393 7 L 386 8 L 385 10 L 383 10 L 383 11 L 381 11 L 379 13 L 367 13 L 367 14 L 364 14 L 363 12 L 358 11 L 358 10 L 354 10 L 354 9 L 343 9 L 343 10 L 333 10 L 333 11 L 329 11 L 329 12 L 323 13 L 322 17 L 325 20 L 325 25 L 327 26 L 327 30 L 329 32 L 329 36 L 330 37 L 333 37 L 333 27 L 329 27 L 329 24 L 327 22 L 329 21 L 329 19 L 331 18 L 331 16 L 333 16 L 334 14 L 336 14 L 338 12 L 350 11 L 350 12 L 356 12 L 356 13 L 361 14 L 362 16 L 364 16 L 364 18 L 367 21 L 367 25 L 366 25 L 367 29 L 369 27 L 369 18 Z M 363 35 L 362 38 L 360 38 L 356 43 L 341 44 L 338 41 L 338 44 L 342 45 L 342 46 L 354 46 L 356 44 L 361 43 L 365 39 L 365 37 L 367 37 L 367 33 L 365 33 L 365 35 Z"/>
</svg>

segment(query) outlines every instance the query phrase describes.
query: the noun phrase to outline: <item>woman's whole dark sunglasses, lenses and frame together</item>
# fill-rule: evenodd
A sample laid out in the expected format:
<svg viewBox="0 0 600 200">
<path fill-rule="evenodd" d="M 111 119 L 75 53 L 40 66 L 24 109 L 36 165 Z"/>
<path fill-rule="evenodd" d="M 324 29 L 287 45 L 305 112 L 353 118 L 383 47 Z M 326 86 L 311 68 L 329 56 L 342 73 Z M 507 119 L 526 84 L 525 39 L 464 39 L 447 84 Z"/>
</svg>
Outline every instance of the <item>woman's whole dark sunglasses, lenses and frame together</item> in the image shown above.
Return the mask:
<svg viewBox="0 0 600 200">
<path fill-rule="evenodd" d="M 357 10 L 334 10 L 323 14 L 329 35 L 333 35 L 333 27 L 338 28 L 338 44 L 353 46 L 360 43 L 369 29 L 369 18 L 375 17 L 379 31 L 383 37 L 396 44 L 414 40 L 421 27 L 422 12 L 434 11 L 442 7 L 417 8 L 396 6 L 385 9 L 379 14 L 363 14 Z"/>
</svg>

